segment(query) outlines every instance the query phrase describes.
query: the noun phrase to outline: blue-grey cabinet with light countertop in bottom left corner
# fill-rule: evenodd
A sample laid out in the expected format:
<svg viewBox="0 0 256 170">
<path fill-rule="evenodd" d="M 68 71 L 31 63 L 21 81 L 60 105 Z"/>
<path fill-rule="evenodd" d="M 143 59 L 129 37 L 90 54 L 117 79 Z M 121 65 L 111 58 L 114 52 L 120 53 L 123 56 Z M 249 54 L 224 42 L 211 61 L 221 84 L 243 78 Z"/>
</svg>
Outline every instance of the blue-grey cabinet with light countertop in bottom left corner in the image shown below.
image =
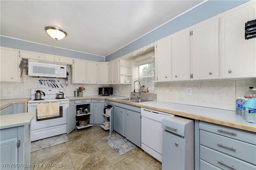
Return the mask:
<svg viewBox="0 0 256 170">
<path fill-rule="evenodd" d="M 30 169 L 26 166 L 30 164 L 30 122 L 33 116 L 32 112 L 1 116 L 1 169 Z"/>
</svg>

